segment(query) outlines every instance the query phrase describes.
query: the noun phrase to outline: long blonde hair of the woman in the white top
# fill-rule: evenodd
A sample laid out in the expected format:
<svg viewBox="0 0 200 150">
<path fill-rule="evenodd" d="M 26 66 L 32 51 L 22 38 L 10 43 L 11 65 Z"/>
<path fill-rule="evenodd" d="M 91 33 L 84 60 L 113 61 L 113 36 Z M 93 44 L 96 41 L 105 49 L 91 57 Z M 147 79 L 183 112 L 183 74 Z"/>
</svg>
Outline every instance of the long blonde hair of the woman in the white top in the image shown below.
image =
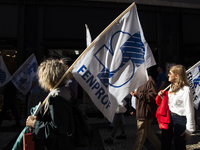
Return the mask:
<svg viewBox="0 0 200 150">
<path fill-rule="evenodd" d="M 175 65 L 169 68 L 171 72 L 175 75 L 179 75 L 175 82 L 171 84 L 172 91 L 170 93 L 175 93 L 178 89 L 183 88 L 185 85 L 189 86 L 187 74 L 185 67 L 182 65 Z"/>
</svg>

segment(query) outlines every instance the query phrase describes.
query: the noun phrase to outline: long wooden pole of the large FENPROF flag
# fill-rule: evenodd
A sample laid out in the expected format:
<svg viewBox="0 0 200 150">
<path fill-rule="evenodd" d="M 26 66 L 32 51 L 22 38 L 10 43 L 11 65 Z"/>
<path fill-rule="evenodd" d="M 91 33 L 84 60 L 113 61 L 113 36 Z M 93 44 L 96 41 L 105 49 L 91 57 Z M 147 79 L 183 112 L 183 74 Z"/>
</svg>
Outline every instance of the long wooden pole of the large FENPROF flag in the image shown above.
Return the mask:
<svg viewBox="0 0 200 150">
<path fill-rule="evenodd" d="M 95 40 L 81 53 L 81 55 L 75 60 L 75 62 L 68 68 L 68 70 L 65 72 L 65 74 L 62 76 L 62 78 L 58 81 L 58 83 L 55 85 L 55 88 L 58 87 L 58 85 L 61 83 L 61 81 L 65 78 L 65 76 L 72 70 L 72 68 L 74 67 L 74 65 L 79 61 L 79 59 L 96 43 L 96 41 L 102 36 L 104 35 L 108 29 L 110 29 L 124 14 L 126 14 L 133 6 L 135 5 L 135 3 L 132 3 L 126 10 L 124 10 L 113 22 L 111 22 L 96 38 Z M 45 98 L 45 100 L 42 102 L 42 104 L 38 104 L 37 109 L 34 112 L 34 115 L 37 115 L 37 113 L 39 112 L 39 109 L 46 103 L 46 101 L 48 100 L 49 94 L 48 96 Z"/>
</svg>

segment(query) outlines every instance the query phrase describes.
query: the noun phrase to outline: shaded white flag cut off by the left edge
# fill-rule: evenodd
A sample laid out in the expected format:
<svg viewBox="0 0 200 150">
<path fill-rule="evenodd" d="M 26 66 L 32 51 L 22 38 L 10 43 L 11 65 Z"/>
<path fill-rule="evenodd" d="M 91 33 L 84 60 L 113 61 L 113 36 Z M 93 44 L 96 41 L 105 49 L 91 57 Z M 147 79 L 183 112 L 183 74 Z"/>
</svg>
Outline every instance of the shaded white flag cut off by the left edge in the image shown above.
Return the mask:
<svg viewBox="0 0 200 150">
<path fill-rule="evenodd" d="M 3 61 L 3 57 L 0 56 L 0 87 L 4 86 L 11 79 L 10 73 Z"/>
</svg>

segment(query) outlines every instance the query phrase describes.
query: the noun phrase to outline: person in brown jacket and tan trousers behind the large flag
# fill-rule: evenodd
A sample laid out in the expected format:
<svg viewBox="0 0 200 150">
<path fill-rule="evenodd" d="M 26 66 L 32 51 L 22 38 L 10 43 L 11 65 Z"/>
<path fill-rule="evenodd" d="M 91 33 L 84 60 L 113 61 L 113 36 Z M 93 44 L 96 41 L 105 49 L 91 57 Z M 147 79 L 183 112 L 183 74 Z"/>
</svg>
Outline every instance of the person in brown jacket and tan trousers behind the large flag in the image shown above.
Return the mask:
<svg viewBox="0 0 200 150">
<path fill-rule="evenodd" d="M 156 150 L 161 149 L 161 142 L 155 133 L 150 129 L 151 123 L 155 118 L 157 105 L 155 97 L 157 95 L 157 85 L 152 76 L 150 68 L 148 70 L 149 80 L 130 94 L 136 97 L 136 120 L 137 120 L 137 138 L 134 144 L 134 150 L 141 150 L 146 138 L 154 145 Z M 132 108 L 130 114 L 133 115 Z"/>
</svg>

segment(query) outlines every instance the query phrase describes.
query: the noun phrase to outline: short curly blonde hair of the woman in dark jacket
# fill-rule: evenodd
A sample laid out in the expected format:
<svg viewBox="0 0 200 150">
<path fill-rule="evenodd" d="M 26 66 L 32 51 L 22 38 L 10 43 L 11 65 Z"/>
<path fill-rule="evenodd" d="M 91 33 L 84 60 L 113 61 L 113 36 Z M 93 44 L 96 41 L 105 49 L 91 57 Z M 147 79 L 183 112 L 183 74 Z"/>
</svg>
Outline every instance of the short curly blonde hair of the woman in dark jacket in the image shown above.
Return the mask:
<svg viewBox="0 0 200 150">
<path fill-rule="evenodd" d="M 58 81 L 67 71 L 66 66 L 56 59 L 47 59 L 43 61 L 38 67 L 38 82 L 41 88 L 46 91 L 53 89 Z M 68 75 L 61 81 L 59 86 L 64 86 L 68 79 Z"/>
</svg>

